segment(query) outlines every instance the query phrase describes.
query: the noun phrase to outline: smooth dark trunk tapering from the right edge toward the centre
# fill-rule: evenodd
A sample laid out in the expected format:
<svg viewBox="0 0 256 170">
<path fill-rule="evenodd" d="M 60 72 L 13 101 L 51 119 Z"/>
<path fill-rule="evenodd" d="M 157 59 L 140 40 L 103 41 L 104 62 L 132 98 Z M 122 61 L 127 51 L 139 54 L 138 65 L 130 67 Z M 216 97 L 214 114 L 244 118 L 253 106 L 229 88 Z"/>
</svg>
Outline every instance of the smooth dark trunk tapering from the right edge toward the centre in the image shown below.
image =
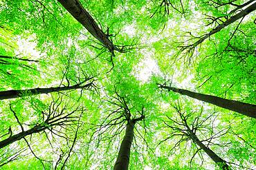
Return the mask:
<svg viewBox="0 0 256 170">
<path fill-rule="evenodd" d="M 201 101 L 205 101 L 207 103 L 212 103 L 213 105 L 217 105 L 219 107 L 229 109 L 232 111 L 236 111 L 239 114 L 244 114 L 246 116 L 250 116 L 252 118 L 256 118 L 256 105 L 243 103 L 235 100 L 228 100 L 225 98 L 220 98 L 217 96 L 212 96 L 208 94 L 200 94 L 196 92 L 190 92 L 186 89 L 177 89 L 174 87 L 168 87 L 165 85 L 160 85 L 163 89 L 169 89 L 172 90 L 172 92 L 176 92 L 179 94 L 183 94 L 186 96 L 190 96 L 192 98 L 196 98 Z"/>
</svg>

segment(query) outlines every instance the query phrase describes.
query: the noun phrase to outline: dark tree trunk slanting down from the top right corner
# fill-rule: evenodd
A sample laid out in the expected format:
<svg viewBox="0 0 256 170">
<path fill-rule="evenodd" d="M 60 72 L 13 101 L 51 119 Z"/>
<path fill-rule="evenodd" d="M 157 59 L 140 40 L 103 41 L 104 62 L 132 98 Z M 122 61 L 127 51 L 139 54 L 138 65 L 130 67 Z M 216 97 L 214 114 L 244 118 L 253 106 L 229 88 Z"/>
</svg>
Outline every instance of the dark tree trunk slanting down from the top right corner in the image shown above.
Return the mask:
<svg viewBox="0 0 256 170">
<path fill-rule="evenodd" d="M 228 19 L 227 21 L 221 23 L 216 28 L 212 29 L 208 34 L 205 34 L 198 41 L 193 43 L 192 47 L 196 47 L 197 45 L 203 43 L 203 41 L 205 41 L 205 39 L 208 39 L 208 37 L 211 36 L 212 34 L 219 32 L 226 26 L 230 25 L 231 23 L 234 23 L 235 21 L 237 21 L 238 19 L 241 19 L 242 17 L 245 17 L 247 14 L 250 14 L 250 12 L 253 12 L 254 10 L 256 10 L 256 3 L 253 3 L 252 5 L 248 6 L 248 8 L 246 8 L 245 10 L 242 10 L 238 14 L 235 14 L 234 16 L 230 17 L 230 19 Z"/>
</svg>

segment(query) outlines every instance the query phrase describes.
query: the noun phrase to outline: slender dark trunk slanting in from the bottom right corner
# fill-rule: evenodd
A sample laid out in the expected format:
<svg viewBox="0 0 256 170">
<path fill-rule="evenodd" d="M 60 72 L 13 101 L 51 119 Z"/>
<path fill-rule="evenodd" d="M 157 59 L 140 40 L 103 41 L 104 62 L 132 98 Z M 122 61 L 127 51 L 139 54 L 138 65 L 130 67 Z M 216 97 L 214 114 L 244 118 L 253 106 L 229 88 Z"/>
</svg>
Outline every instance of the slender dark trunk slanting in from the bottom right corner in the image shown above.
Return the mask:
<svg viewBox="0 0 256 170">
<path fill-rule="evenodd" d="M 220 158 L 219 156 L 217 156 L 217 154 L 214 153 L 214 151 L 212 151 L 210 148 L 206 147 L 206 146 L 203 144 L 203 142 L 201 142 L 201 140 L 199 140 L 199 138 L 197 138 L 196 134 L 194 134 L 194 132 L 192 132 L 192 130 L 190 129 L 190 127 L 187 127 L 187 128 L 188 128 L 188 134 L 189 134 L 190 138 L 196 143 L 196 145 L 198 145 L 201 149 L 203 149 L 203 151 L 204 151 L 216 164 L 218 164 L 218 166 L 221 167 L 221 169 L 223 169 L 223 170 L 228 170 L 228 169 L 230 169 L 225 160 L 223 160 L 222 158 Z"/>
</svg>

